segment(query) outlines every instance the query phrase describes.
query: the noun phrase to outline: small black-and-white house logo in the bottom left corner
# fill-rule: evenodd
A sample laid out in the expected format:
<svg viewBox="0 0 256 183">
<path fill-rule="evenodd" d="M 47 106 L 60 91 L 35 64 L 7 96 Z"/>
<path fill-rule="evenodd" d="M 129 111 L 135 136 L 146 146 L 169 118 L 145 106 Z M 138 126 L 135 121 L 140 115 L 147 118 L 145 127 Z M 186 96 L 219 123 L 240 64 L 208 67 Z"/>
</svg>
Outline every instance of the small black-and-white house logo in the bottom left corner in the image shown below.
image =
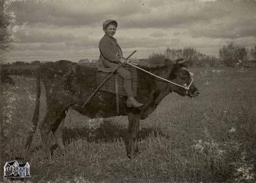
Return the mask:
<svg viewBox="0 0 256 183">
<path fill-rule="evenodd" d="M 30 177 L 29 163 L 18 163 L 17 160 L 7 161 L 4 165 L 4 177 L 26 178 Z"/>
</svg>

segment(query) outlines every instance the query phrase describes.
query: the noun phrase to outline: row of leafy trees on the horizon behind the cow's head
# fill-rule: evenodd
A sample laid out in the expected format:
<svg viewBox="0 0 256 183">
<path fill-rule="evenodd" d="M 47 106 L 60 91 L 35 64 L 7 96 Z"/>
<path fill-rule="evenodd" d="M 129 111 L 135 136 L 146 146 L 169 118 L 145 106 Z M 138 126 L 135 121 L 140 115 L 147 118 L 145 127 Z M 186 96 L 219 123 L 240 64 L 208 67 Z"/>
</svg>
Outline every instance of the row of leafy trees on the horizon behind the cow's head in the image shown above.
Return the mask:
<svg viewBox="0 0 256 183">
<path fill-rule="evenodd" d="M 246 48 L 241 45 L 236 45 L 234 41 L 230 41 L 227 45 L 219 50 L 219 56 L 211 56 L 202 54 L 193 47 L 184 48 L 166 48 L 164 54 L 153 53 L 149 55 L 149 59 L 153 64 L 161 62 L 164 58 L 175 61 L 179 58 L 191 56 L 190 66 L 212 66 L 218 67 L 223 65 L 232 65 L 237 62 L 245 62 L 247 60 L 256 60 L 256 45 L 251 48 Z M 159 57 L 159 59 L 156 59 Z M 162 58 L 161 58 L 162 57 Z"/>
</svg>

